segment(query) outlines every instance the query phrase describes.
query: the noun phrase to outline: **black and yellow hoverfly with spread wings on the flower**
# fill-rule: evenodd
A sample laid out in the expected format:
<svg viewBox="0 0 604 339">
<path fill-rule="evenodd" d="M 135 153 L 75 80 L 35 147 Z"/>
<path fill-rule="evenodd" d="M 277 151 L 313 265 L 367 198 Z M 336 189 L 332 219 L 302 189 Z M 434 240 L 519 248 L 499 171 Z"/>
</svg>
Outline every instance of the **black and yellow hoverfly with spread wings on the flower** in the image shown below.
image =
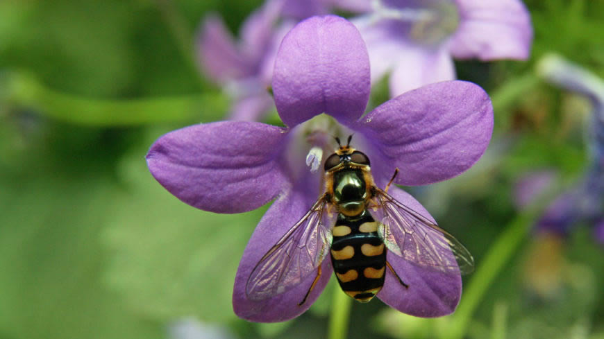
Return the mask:
<svg viewBox="0 0 604 339">
<path fill-rule="evenodd" d="M 249 299 L 284 293 L 316 271 L 299 303 L 304 304 L 328 253 L 339 286 L 359 302 L 380 291 L 386 270 L 408 288 L 387 261 L 387 251 L 443 274 L 473 270 L 471 254 L 457 239 L 387 193 L 398 168 L 379 189 L 367 155 L 350 147 L 352 136 L 346 146 L 335 139 L 339 148 L 324 165 L 325 192 L 256 264 L 246 284 Z"/>
</svg>

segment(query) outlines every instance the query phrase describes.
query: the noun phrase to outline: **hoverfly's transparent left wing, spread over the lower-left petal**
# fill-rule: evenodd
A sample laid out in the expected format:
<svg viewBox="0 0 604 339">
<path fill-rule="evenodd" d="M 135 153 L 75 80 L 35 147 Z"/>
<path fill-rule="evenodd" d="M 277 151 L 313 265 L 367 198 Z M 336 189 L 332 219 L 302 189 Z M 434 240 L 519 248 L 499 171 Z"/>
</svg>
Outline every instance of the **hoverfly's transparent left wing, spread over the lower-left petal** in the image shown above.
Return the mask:
<svg viewBox="0 0 604 339">
<path fill-rule="evenodd" d="M 298 223 L 258 261 L 246 284 L 251 300 L 290 290 L 317 269 L 331 246 L 333 223 L 322 196 Z"/>
</svg>

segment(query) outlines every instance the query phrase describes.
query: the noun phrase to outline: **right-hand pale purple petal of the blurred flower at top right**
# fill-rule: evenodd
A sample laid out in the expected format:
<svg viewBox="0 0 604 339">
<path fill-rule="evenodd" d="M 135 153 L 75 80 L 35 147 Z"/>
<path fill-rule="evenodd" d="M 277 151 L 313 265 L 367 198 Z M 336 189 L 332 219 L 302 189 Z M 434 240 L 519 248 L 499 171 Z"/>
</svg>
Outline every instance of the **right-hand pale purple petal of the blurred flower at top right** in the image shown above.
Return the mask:
<svg viewBox="0 0 604 339">
<path fill-rule="evenodd" d="M 532 43 L 528 10 L 520 0 L 456 0 L 460 26 L 451 41 L 455 58 L 526 60 Z"/>
</svg>

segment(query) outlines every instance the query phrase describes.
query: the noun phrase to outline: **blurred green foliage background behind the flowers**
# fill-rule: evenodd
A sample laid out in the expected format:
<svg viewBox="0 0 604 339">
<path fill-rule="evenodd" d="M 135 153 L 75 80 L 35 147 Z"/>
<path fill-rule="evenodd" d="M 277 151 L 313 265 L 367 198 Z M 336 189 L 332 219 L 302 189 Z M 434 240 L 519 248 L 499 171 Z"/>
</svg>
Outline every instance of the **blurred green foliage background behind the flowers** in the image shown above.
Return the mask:
<svg viewBox="0 0 604 339">
<path fill-rule="evenodd" d="M 0 1 L 0 338 L 167 338 L 176 336 L 171 324 L 191 317 L 233 338 L 324 338 L 334 279 L 290 322 L 233 314 L 235 270 L 266 207 L 196 210 L 144 162 L 161 134 L 228 110 L 192 54 L 201 17 L 219 12 L 236 32 L 260 3 Z M 513 189 L 528 171 L 554 169 L 561 187 L 585 171 L 589 105 L 539 79 L 535 64 L 555 52 L 604 78 L 604 1 L 525 3 L 535 27 L 528 62 L 457 62 L 459 77 L 494 102 L 487 154 L 460 177 L 412 193 L 467 245 L 478 270 L 501 258 L 482 292 L 469 293 L 476 306 L 458 310 L 469 313 L 464 336 L 602 339 L 604 248 L 578 227 L 536 257 L 530 224 L 539 208 L 519 214 Z M 372 102 L 384 93 L 376 87 Z M 498 242 L 509 257 L 490 250 Z M 550 266 L 554 292 L 541 295 L 527 284 L 537 274 L 530 268 Z M 458 318 L 354 304 L 349 337 L 443 337 Z"/>
</svg>

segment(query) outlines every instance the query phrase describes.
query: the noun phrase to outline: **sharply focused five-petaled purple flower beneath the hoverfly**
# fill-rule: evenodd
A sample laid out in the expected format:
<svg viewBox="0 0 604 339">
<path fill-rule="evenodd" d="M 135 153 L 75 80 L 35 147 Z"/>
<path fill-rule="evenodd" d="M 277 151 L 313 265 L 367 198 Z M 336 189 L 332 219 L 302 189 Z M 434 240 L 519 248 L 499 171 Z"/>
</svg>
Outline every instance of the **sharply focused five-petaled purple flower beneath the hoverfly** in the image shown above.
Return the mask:
<svg viewBox="0 0 604 339">
<path fill-rule="evenodd" d="M 396 167 L 401 170 L 396 183 L 405 185 L 462 173 L 484 153 L 493 127 L 487 94 L 462 81 L 422 87 L 363 116 L 369 56 L 357 28 L 335 16 L 312 17 L 286 35 L 276 57 L 273 89 L 287 127 L 244 121 L 193 125 L 160 137 L 146 157 L 160 184 L 199 209 L 238 213 L 274 200 L 244 251 L 233 291 L 235 313 L 257 322 L 300 315 L 330 279 L 331 262 L 324 260 L 323 275 L 302 306 L 314 274 L 269 299 L 246 295 L 255 264 L 323 193 L 321 175 L 309 171 L 305 161 L 316 167 L 323 154 L 331 153 L 331 135 L 355 132 L 355 148 L 371 159 L 376 184 L 384 187 Z M 392 187 L 389 193 L 431 218 L 405 191 Z M 387 259 L 410 288 L 387 272 L 377 295 L 383 302 L 422 317 L 453 312 L 461 295 L 460 275 L 442 275 L 391 252 Z"/>
</svg>

